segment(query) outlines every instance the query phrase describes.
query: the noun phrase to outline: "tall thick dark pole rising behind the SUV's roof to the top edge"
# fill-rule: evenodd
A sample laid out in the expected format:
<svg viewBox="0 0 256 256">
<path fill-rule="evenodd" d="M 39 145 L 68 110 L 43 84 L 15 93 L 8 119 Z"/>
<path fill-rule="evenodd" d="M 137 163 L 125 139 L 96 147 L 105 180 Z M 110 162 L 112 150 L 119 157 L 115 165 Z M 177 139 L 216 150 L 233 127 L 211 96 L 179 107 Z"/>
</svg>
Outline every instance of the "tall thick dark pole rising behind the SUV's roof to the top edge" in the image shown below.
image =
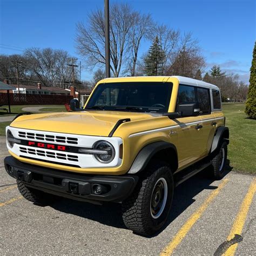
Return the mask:
<svg viewBox="0 0 256 256">
<path fill-rule="evenodd" d="M 109 0 L 105 0 L 105 76 L 110 77 Z"/>
</svg>

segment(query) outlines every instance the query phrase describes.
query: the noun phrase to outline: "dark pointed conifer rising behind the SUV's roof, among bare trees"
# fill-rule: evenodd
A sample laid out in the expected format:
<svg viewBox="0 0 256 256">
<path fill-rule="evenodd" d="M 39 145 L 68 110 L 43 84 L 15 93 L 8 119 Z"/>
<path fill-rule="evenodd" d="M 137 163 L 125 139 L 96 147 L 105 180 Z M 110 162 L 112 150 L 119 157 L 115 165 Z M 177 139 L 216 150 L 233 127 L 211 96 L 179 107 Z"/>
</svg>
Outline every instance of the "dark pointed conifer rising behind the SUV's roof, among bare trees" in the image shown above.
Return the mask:
<svg viewBox="0 0 256 256">
<path fill-rule="evenodd" d="M 144 71 L 147 76 L 161 76 L 164 74 L 165 53 L 161 48 L 158 36 L 150 46 L 144 58 Z"/>
</svg>

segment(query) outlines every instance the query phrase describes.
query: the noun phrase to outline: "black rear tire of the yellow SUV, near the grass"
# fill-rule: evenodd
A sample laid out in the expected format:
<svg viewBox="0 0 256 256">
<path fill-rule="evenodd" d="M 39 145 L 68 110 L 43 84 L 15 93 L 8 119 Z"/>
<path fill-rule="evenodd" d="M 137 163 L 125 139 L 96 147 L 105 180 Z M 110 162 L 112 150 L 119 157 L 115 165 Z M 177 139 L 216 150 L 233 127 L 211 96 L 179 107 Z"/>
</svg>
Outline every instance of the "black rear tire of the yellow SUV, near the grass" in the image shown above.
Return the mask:
<svg viewBox="0 0 256 256">
<path fill-rule="evenodd" d="M 224 153 L 224 159 L 223 159 Z M 223 161 L 223 162 L 222 162 Z M 215 156 L 212 158 L 212 169 L 213 169 L 213 178 L 214 179 L 221 179 L 224 176 L 225 165 L 227 161 L 227 143 L 225 140 L 221 143 L 219 147 L 219 151 Z"/>
</svg>

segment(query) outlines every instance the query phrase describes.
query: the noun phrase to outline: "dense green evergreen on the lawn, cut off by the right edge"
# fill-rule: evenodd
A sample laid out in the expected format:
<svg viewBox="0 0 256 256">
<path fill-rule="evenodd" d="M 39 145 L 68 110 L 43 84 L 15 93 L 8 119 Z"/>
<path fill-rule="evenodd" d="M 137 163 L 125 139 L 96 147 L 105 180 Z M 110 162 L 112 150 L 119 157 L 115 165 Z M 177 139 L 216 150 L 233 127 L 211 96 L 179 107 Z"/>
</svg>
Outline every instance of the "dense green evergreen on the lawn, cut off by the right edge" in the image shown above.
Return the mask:
<svg viewBox="0 0 256 256">
<path fill-rule="evenodd" d="M 248 114 L 250 118 L 256 119 L 256 42 L 254 44 L 250 71 L 250 85 L 245 104 L 245 113 Z"/>
</svg>

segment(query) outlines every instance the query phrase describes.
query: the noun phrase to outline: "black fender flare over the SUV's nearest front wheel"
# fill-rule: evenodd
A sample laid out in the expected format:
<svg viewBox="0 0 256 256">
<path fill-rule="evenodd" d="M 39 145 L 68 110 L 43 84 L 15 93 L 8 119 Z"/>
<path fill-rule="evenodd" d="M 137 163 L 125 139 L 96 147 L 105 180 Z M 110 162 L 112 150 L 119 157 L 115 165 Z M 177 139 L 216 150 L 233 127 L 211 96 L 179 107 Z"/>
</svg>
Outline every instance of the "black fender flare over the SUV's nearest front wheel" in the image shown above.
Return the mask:
<svg viewBox="0 0 256 256">
<path fill-rule="evenodd" d="M 178 169 L 178 153 L 176 146 L 172 143 L 160 141 L 144 146 L 134 159 L 128 173 L 142 172 L 152 159 L 166 161 L 170 165 L 172 172 Z"/>
</svg>

